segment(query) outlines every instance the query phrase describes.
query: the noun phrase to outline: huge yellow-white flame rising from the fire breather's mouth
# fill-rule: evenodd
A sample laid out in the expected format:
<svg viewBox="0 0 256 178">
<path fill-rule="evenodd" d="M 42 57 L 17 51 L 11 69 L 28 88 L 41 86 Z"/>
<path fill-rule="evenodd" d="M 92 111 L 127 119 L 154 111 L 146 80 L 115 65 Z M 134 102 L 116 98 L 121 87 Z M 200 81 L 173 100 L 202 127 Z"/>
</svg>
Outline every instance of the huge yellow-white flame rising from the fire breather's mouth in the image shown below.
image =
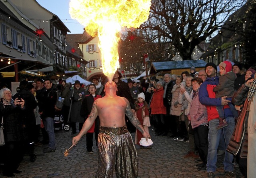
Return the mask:
<svg viewBox="0 0 256 178">
<path fill-rule="evenodd" d="M 118 42 L 122 27 L 139 28 L 148 19 L 151 0 L 70 0 L 69 13 L 98 35 L 103 73 L 112 78 L 119 67 Z"/>
</svg>

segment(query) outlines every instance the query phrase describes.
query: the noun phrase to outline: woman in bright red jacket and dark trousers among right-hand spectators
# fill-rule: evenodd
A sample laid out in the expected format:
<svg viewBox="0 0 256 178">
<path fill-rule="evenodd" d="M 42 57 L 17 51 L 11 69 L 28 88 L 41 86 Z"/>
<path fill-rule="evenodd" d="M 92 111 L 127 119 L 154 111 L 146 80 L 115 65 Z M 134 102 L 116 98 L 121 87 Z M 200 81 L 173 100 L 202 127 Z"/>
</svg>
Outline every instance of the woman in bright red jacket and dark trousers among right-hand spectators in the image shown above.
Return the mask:
<svg viewBox="0 0 256 178">
<path fill-rule="evenodd" d="M 156 135 L 166 135 L 167 127 L 164 122 L 164 116 L 166 114 L 166 107 L 164 106 L 164 88 L 162 82 L 156 83 L 154 94 L 150 101 L 150 109 L 152 114 L 152 120 L 156 121 Z"/>
</svg>

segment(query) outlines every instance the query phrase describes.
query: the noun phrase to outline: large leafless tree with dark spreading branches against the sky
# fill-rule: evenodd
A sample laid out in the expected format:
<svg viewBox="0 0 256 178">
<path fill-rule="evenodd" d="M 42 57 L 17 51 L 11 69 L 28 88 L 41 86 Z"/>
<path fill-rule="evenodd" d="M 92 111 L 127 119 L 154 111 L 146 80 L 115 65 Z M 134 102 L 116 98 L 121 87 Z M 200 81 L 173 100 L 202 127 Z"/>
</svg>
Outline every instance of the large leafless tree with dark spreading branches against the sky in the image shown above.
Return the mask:
<svg viewBox="0 0 256 178">
<path fill-rule="evenodd" d="M 149 18 L 140 29 L 148 42 L 164 46 L 162 56 L 171 58 L 175 48 L 183 60 L 191 60 L 195 46 L 220 29 L 244 1 L 152 0 Z"/>
</svg>

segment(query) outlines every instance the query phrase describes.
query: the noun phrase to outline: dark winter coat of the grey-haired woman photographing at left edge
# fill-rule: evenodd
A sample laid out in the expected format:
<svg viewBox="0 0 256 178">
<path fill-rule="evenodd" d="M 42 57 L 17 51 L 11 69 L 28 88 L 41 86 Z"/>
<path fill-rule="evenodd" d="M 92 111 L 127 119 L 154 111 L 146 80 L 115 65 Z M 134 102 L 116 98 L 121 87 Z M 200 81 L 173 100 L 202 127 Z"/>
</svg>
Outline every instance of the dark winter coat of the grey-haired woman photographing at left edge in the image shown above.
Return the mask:
<svg viewBox="0 0 256 178">
<path fill-rule="evenodd" d="M 18 142 L 24 140 L 22 119 L 20 116 L 24 114 L 24 108 L 15 106 L 13 100 L 11 103 L 0 100 L 0 119 L 4 117 L 4 140 L 5 142 Z"/>
</svg>

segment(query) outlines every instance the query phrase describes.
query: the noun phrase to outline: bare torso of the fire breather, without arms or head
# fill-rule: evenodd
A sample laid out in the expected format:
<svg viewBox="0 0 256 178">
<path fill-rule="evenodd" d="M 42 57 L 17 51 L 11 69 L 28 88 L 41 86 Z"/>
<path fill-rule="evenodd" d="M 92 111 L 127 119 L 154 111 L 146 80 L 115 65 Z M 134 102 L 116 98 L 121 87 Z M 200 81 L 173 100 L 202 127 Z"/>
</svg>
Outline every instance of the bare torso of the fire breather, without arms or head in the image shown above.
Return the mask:
<svg viewBox="0 0 256 178">
<path fill-rule="evenodd" d="M 96 110 L 100 118 L 100 126 L 122 127 L 125 122 L 125 111 L 127 103 L 124 98 L 106 97 L 99 98 L 96 103 Z"/>
</svg>

